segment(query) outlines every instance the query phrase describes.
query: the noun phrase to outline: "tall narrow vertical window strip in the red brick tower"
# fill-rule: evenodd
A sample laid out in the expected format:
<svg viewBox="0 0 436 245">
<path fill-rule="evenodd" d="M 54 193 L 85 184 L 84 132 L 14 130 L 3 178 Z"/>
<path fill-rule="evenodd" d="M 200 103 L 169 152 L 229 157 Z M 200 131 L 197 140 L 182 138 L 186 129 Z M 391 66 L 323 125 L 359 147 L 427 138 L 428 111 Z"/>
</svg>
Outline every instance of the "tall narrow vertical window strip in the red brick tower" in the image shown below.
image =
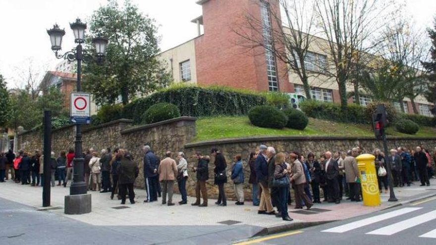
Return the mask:
<svg viewBox="0 0 436 245">
<path fill-rule="evenodd" d="M 262 1 L 261 4 L 262 32 L 265 43 L 265 57 L 267 63 L 268 87 L 270 91 L 278 91 L 277 66 L 272 53 L 272 29 L 270 19 L 270 4 Z"/>
</svg>

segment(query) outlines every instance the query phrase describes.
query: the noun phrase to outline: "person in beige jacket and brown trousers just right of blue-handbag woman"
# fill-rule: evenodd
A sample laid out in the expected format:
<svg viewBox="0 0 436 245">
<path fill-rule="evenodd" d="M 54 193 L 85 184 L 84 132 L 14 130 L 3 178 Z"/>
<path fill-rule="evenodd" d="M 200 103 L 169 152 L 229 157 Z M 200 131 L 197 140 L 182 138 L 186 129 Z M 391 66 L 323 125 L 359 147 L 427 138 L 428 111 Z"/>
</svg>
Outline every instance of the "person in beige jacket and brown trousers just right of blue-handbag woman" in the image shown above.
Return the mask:
<svg viewBox="0 0 436 245">
<path fill-rule="evenodd" d="M 302 200 L 309 210 L 313 206 L 313 202 L 304 193 L 304 185 L 306 184 L 306 177 L 304 176 L 303 165 L 298 160 L 298 155 L 295 153 L 289 154 L 289 160 L 292 163 L 292 174 L 290 177 L 291 183 L 295 186 L 295 208 L 303 208 Z"/>
</svg>

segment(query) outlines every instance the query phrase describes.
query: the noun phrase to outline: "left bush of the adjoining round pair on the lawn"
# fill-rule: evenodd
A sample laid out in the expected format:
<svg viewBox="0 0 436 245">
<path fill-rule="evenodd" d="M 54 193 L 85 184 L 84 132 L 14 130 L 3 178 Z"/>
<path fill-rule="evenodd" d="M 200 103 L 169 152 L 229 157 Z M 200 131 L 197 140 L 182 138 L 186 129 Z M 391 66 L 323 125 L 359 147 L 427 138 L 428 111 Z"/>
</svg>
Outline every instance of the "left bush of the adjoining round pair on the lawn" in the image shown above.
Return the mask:
<svg viewBox="0 0 436 245">
<path fill-rule="evenodd" d="M 271 105 L 254 106 L 248 112 L 250 122 L 258 127 L 282 129 L 288 118 L 279 109 Z"/>
</svg>

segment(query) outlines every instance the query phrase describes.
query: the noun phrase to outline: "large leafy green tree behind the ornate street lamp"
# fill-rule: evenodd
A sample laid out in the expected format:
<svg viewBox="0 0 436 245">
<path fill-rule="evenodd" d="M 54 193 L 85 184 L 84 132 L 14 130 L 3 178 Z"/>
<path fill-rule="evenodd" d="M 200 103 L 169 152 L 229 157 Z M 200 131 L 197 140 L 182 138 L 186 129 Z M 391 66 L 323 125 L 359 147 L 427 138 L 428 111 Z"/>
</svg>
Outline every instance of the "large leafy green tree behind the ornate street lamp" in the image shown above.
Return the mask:
<svg viewBox="0 0 436 245">
<path fill-rule="evenodd" d="M 104 64 L 84 66 L 84 88 L 98 104 L 114 103 L 119 96 L 127 104 L 136 95 L 148 94 L 167 81 L 162 79 L 166 70 L 156 58 L 160 50 L 155 21 L 130 0 L 125 0 L 123 6 L 109 0 L 108 5 L 96 10 L 91 17 L 90 34 L 109 38 Z"/>
</svg>

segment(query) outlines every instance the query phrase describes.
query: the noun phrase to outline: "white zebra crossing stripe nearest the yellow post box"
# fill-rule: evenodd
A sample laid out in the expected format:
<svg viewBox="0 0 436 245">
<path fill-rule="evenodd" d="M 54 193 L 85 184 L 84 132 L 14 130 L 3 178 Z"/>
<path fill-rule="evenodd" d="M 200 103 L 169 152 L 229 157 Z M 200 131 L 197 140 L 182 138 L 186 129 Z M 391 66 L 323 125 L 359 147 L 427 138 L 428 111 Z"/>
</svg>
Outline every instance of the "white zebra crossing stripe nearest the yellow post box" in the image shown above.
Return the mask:
<svg viewBox="0 0 436 245">
<path fill-rule="evenodd" d="M 382 221 L 382 220 L 386 220 L 386 219 L 390 219 L 399 215 L 403 215 L 406 213 L 410 213 L 413 211 L 416 211 L 418 209 L 421 209 L 421 207 L 405 207 L 405 208 L 401 208 L 395 211 L 391 211 L 388 213 L 383 213 L 374 217 L 370 217 L 370 218 L 366 218 L 366 219 L 362 219 L 362 220 L 358 220 L 355 222 L 351 222 L 345 225 L 341 225 L 341 226 L 337 226 L 337 227 L 333 227 L 321 232 L 332 232 L 332 233 L 344 233 L 347 231 L 351 231 L 363 226 L 367 226 L 367 225 L 371 225 L 373 223 Z"/>
</svg>

